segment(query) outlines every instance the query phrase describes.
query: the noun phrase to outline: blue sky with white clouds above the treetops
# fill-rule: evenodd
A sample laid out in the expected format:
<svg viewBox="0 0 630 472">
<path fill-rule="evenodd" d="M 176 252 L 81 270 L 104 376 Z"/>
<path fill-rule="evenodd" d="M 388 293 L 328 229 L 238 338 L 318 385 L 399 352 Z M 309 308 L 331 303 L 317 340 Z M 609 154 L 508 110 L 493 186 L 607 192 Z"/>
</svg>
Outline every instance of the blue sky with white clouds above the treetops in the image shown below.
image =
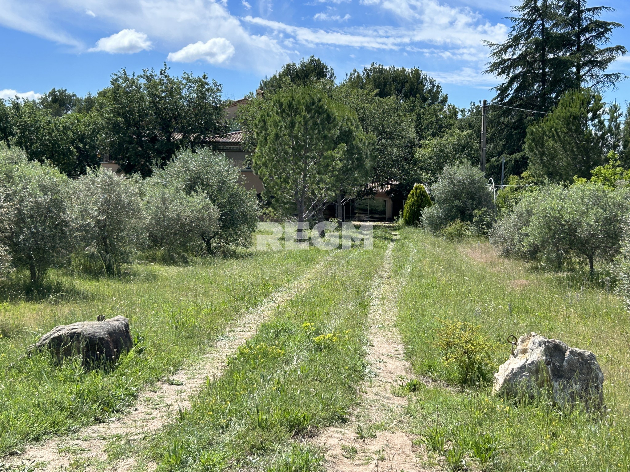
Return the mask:
<svg viewBox="0 0 630 472">
<path fill-rule="evenodd" d="M 616 8 L 607 19 L 628 26 L 614 43 L 630 49 L 628 0 L 605 4 Z M 482 40 L 505 38 L 509 8 L 501 0 L 0 0 L 0 97 L 95 93 L 116 70 L 167 62 L 240 98 L 314 54 L 338 79 L 371 62 L 418 66 L 466 106 L 493 96 Z M 630 75 L 630 57 L 613 69 Z M 630 99 L 630 80 L 606 99 Z"/>
</svg>

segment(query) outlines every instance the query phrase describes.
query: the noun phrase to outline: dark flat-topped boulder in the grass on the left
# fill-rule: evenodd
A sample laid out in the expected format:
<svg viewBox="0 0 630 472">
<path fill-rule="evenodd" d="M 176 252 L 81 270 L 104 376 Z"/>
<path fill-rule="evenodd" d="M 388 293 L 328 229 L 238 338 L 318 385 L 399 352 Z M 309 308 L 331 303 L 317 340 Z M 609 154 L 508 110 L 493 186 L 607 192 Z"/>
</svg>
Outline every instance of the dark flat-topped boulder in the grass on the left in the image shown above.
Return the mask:
<svg viewBox="0 0 630 472">
<path fill-rule="evenodd" d="M 57 326 L 30 346 L 28 352 L 50 351 L 59 363 L 64 357 L 81 356 L 84 366 L 95 368 L 116 362 L 120 354 L 133 346 L 129 320 L 118 316 Z"/>
</svg>

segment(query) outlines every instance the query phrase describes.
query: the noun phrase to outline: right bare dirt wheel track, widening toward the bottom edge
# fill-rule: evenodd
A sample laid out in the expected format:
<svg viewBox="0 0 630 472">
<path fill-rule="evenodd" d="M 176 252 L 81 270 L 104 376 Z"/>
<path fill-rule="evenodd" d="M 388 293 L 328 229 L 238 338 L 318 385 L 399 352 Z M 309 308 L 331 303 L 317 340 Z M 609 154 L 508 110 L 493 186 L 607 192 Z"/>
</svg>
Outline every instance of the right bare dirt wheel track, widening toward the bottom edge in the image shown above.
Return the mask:
<svg viewBox="0 0 630 472">
<path fill-rule="evenodd" d="M 331 472 L 422 471 L 413 437 L 403 431 L 407 399 L 395 396 L 392 388 L 409 380 L 411 366 L 396 322 L 396 281 L 391 278 L 392 251 L 398 233 L 385 253 L 381 271 L 370 289 L 367 361 L 372 378 L 361 387 L 362 398 L 350 423 L 331 427 L 315 439 L 323 447 Z"/>
</svg>

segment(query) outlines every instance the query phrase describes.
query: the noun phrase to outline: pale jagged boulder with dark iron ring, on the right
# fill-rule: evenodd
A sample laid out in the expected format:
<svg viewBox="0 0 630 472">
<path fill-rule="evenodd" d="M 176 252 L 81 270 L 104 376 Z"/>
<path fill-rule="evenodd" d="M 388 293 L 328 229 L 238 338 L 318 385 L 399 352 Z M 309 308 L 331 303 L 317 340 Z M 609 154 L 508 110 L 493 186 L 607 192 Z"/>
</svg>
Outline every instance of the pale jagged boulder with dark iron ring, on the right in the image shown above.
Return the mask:
<svg viewBox="0 0 630 472">
<path fill-rule="evenodd" d="M 568 347 L 536 333 L 521 336 L 509 359 L 495 374 L 493 391 L 507 396 L 529 395 L 548 388 L 559 405 L 604 405 L 604 374 L 595 354 Z"/>
</svg>

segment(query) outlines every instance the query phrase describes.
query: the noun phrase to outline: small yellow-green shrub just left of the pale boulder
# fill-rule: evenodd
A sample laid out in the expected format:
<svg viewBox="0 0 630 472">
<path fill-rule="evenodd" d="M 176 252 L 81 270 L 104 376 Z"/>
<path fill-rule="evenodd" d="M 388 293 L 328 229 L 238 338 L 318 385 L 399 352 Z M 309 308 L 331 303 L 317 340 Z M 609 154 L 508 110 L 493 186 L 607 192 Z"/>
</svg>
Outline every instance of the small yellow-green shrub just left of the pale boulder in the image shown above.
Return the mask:
<svg viewBox="0 0 630 472">
<path fill-rule="evenodd" d="M 447 368 L 454 366 L 460 385 L 490 381 L 493 346 L 479 333 L 478 326 L 467 322 L 442 320 L 442 328 L 438 329 L 437 336 L 437 347 L 442 351 L 442 359 Z"/>
</svg>

